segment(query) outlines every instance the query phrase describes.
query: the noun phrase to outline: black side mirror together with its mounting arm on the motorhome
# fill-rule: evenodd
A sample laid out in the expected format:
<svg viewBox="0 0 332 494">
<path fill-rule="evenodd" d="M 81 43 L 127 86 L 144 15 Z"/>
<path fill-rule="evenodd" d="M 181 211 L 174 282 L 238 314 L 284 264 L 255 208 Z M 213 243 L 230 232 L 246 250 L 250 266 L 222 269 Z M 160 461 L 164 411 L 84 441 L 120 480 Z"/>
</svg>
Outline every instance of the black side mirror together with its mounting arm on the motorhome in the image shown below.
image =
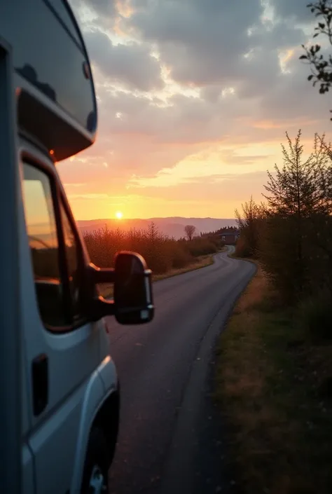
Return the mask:
<svg viewBox="0 0 332 494">
<path fill-rule="evenodd" d="M 111 269 L 97 268 L 91 263 L 88 267 L 92 288 L 88 303 L 90 320 L 97 321 L 107 315 L 114 315 L 120 324 L 144 324 L 153 320 L 151 275 L 144 258 L 135 252 L 118 252 L 115 267 Z M 113 283 L 113 300 L 95 296 L 99 283 Z"/>
</svg>

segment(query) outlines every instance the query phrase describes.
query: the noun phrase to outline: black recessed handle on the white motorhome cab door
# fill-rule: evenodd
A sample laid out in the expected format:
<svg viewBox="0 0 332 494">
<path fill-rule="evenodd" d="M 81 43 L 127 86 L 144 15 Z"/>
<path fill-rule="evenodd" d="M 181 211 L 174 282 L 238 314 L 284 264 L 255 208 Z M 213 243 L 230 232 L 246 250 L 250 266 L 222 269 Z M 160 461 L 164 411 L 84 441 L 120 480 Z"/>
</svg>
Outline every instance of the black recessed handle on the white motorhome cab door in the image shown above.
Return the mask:
<svg viewBox="0 0 332 494">
<path fill-rule="evenodd" d="M 32 406 L 34 416 L 39 416 L 48 404 L 48 356 L 37 355 L 32 360 Z"/>
</svg>

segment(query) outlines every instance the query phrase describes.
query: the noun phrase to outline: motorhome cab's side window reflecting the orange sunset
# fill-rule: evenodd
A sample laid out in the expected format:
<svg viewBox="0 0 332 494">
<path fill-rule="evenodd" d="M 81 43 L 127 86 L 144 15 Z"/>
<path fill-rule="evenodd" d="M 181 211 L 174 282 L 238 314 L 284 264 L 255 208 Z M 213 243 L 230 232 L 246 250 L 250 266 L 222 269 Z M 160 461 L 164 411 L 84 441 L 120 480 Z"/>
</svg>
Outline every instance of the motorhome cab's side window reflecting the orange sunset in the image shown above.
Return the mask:
<svg viewBox="0 0 332 494">
<path fill-rule="evenodd" d="M 62 208 L 65 252 L 69 280 L 63 280 L 65 270 L 60 266 L 60 245 L 55 222 L 55 210 L 50 178 L 39 168 L 23 164 L 23 199 L 25 221 L 32 255 L 34 284 L 41 320 L 47 327 L 60 328 L 73 324 L 71 308 L 78 294 L 74 289 L 77 280 L 77 255 L 74 235 L 67 215 Z M 64 259 L 62 257 L 62 259 Z M 64 283 L 65 281 L 65 283 Z M 69 283 L 68 283 L 69 282 Z M 69 296 L 68 290 L 72 297 Z M 67 294 L 67 297 L 65 296 Z M 76 297 L 76 298 L 75 298 Z"/>
</svg>

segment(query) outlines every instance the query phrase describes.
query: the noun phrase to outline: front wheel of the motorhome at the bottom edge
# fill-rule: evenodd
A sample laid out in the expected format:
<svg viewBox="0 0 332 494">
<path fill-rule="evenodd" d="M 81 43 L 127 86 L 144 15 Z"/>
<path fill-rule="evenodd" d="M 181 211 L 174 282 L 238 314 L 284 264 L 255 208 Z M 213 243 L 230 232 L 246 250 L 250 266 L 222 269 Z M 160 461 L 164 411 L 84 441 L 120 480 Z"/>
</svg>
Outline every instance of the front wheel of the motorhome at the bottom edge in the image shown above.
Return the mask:
<svg viewBox="0 0 332 494">
<path fill-rule="evenodd" d="M 109 448 L 101 429 L 90 432 L 85 456 L 81 494 L 109 494 Z"/>
</svg>

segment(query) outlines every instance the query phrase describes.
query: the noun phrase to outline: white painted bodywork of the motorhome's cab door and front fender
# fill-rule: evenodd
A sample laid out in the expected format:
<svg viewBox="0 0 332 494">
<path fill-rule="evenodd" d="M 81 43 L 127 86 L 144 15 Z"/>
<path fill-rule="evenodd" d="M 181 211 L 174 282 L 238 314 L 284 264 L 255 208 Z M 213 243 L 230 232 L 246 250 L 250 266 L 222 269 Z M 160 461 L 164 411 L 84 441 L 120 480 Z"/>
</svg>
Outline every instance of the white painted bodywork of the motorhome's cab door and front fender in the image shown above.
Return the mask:
<svg viewBox="0 0 332 494">
<path fill-rule="evenodd" d="M 53 163 L 29 142 L 21 140 L 20 155 L 29 153 L 32 163 L 43 163 L 54 173 Z M 22 174 L 21 174 L 22 175 Z M 117 389 L 116 369 L 109 354 L 102 321 L 86 323 L 67 333 L 52 333 L 39 315 L 34 273 L 20 205 L 20 307 L 22 314 L 24 386 L 22 401 L 25 490 L 32 492 L 32 455 L 36 494 L 79 493 L 90 428 L 110 392 Z M 48 404 L 34 416 L 31 363 L 48 357 Z"/>
</svg>

